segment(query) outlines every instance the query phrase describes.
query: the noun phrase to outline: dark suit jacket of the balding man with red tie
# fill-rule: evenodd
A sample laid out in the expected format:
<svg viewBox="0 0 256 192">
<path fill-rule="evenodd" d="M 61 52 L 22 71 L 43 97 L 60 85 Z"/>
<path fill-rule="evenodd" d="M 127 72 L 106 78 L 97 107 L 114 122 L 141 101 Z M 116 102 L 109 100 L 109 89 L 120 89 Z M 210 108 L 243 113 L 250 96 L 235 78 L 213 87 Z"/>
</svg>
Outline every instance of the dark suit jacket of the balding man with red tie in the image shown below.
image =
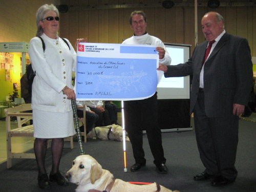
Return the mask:
<svg viewBox="0 0 256 192">
<path fill-rule="evenodd" d="M 193 74 L 190 113 L 199 92 L 199 79 L 207 41 L 196 46 L 192 57 L 177 66 L 167 66 L 165 77 Z M 233 103 L 247 105 L 252 82 L 252 62 L 248 41 L 225 33 L 204 63 L 205 113 L 208 117 L 231 115 Z"/>
</svg>

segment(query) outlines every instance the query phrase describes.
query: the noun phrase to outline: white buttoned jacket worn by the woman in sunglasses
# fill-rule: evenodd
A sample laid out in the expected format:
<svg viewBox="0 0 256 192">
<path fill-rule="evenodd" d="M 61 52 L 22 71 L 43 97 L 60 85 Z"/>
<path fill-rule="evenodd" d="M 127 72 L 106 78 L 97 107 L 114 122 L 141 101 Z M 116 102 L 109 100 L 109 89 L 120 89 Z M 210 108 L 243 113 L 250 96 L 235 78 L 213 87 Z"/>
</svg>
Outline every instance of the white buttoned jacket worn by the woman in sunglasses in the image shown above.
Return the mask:
<svg viewBox="0 0 256 192">
<path fill-rule="evenodd" d="M 76 52 L 61 39 L 52 39 L 42 34 L 41 39 L 30 40 L 29 57 L 36 75 L 32 85 L 32 109 L 50 112 L 68 112 L 72 110 L 71 100 L 63 95 L 65 86 L 73 89 L 72 71 L 76 69 Z"/>
</svg>

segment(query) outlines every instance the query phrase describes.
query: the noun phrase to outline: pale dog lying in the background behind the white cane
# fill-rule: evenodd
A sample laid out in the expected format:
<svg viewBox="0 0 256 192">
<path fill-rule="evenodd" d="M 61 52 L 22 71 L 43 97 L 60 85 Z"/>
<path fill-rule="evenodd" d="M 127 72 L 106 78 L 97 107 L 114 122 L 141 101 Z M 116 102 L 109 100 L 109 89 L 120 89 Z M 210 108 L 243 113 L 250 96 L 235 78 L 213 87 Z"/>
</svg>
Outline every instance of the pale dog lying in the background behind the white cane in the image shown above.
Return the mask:
<svg viewBox="0 0 256 192">
<path fill-rule="evenodd" d="M 87 134 L 88 139 L 93 139 L 95 137 L 103 140 L 123 141 L 123 128 L 116 124 L 108 126 L 97 126 L 95 127 L 95 130 L 93 129 Z M 125 140 L 130 141 L 129 137 L 127 136 L 125 136 Z"/>
</svg>

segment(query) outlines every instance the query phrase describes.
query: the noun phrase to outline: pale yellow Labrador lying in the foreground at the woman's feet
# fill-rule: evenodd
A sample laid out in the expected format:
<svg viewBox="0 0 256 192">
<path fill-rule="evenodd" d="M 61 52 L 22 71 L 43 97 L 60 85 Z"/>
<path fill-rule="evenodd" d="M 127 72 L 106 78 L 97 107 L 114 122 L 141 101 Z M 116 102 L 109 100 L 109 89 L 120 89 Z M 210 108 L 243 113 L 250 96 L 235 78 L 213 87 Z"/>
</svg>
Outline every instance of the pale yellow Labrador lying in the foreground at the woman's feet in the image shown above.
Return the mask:
<svg viewBox="0 0 256 192">
<path fill-rule="evenodd" d="M 101 165 L 90 155 L 76 157 L 72 168 L 65 176 L 67 181 L 78 185 L 76 192 L 97 190 L 107 192 L 172 192 L 172 190 L 156 183 L 136 185 L 120 179 L 113 179 L 114 176 L 109 170 L 102 169 Z"/>
</svg>

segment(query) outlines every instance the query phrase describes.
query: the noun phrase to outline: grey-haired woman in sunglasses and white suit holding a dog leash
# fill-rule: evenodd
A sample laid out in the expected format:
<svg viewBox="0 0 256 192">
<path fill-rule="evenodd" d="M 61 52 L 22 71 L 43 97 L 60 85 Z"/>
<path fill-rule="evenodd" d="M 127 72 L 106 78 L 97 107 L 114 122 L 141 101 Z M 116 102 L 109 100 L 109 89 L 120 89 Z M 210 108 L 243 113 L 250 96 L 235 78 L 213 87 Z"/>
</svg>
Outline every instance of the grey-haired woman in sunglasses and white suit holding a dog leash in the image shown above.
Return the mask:
<svg viewBox="0 0 256 192">
<path fill-rule="evenodd" d="M 38 166 L 38 185 L 50 189 L 50 182 L 67 186 L 59 172 L 63 138 L 75 134 L 70 99 L 76 99 L 72 88 L 72 71 L 76 52 L 58 36 L 59 12 L 54 5 L 43 5 L 36 12 L 36 37 L 30 41 L 29 57 L 36 72 L 32 85 L 34 151 Z M 42 40 L 45 48 L 43 48 Z M 77 39 L 84 42 L 84 39 Z M 68 45 L 69 46 L 68 46 Z M 45 157 L 47 140 L 52 139 L 52 169 L 47 175 Z"/>
</svg>

